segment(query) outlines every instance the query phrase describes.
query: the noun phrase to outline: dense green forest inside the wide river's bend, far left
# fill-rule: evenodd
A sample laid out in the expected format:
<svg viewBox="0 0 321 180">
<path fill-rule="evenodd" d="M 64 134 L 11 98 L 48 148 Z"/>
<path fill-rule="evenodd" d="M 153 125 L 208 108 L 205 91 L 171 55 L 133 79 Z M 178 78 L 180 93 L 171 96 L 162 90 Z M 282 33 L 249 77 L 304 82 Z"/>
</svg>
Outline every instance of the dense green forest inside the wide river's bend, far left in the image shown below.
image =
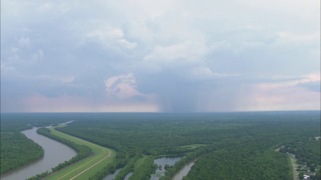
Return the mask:
<svg viewBox="0 0 321 180">
<path fill-rule="evenodd" d="M 21 132 L 1 132 L 1 174 L 44 155 L 42 147 Z"/>
</svg>

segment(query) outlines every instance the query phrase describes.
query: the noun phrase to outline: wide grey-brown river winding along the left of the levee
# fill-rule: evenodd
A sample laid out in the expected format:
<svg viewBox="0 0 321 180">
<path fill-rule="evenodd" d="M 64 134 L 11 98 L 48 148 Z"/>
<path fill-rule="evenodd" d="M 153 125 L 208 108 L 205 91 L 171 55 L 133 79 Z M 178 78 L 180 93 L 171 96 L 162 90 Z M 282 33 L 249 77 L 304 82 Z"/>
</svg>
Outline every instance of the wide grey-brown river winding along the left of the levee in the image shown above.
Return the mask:
<svg viewBox="0 0 321 180">
<path fill-rule="evenodd" d="M 44 157 L 31 162 L 25 166 L 19 167 L 1 175 L 1 180 L 24 180 L 36 174 L 51 171 L 51 167 L 57 166 L 65 160 L 71 159 L 76 155 L 76 151 L 67 145 L 56 140 L 38 134 L 36 131 L 39 127 L 21 131 L 28 138 L 42 146 L 45 150 Z"/>
</svg>

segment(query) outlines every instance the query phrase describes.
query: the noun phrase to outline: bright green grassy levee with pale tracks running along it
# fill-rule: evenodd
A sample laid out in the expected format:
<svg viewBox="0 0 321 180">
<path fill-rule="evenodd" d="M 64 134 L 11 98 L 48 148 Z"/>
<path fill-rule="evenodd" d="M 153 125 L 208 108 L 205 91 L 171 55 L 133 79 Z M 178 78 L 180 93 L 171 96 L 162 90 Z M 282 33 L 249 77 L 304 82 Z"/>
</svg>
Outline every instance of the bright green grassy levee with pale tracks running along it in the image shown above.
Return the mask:
<svg viewBox="0 0 321 180">
<path fill-rule="evenodd" d="M 92 148 L 92 152 L 94 154 L 74 164 L 71 164 L 55 173 L 52 173 L 45 179 L 88 179 L 90 176 L 93 176 L 97 171 L 101 170 L 108 163 L 112 162 L 115 158 L 114 156 L 117 152 L 113 149 L 94 144 L 92 142 L 65 134 L 63 132 L 59 132 L 55 130 L 53 127 L 50 129 L 51 133 L 57 136 L 71 140 L 77 144 L 84 144 L 89 146 L 90 148 Z"/>
</svg>

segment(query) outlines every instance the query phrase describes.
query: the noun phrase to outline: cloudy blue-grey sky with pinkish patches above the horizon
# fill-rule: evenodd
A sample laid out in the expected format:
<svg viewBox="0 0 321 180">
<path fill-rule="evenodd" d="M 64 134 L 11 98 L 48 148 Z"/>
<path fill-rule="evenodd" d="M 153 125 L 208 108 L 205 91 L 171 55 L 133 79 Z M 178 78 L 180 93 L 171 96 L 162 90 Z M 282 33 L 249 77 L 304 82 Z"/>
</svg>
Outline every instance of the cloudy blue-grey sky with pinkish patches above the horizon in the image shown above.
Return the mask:
<svg viewBox="0 0 321 180">
<path fill-rule="evenodd" d="M 320 0 L 1 0 L 1 112 L 320 109 Z"/>
</svg>

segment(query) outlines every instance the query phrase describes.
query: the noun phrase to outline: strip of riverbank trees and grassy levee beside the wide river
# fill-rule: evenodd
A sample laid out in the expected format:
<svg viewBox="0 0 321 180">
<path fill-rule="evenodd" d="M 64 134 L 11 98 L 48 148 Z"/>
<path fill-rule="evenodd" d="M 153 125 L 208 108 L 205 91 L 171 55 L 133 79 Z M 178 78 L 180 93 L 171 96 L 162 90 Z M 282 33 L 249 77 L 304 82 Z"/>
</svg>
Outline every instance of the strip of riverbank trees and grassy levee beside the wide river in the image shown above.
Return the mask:
<svg viewBox="0 0 321 180">
<path fill-rule="evenodd" d="M 54 127 L 44 127 L 39 129 L 40 130 L 38 130 L 37 133 L 46 134 L 46 136 L 50 138 L 53 137 L 52 139 L 54 140 L 60 139 L 58 141 L 72 148 L 75 147 L 75 150 L 78 153 L 69 161 L 65 161 L 63 163 L 60 163 L 56 167 L 53 167 L 53 172 L 46 171 L 41 174 L 37 174 L 36 176 L 30 177 L 28 180 L 40 179 L 43 177 L 45 177 L 45 179 L 72 179 L 78 176 L 80 178 L 86 179 L 94 175 L 97 169 L 103 168 L 104 166 L 106 166 L 106 164 L 110 164 L 113 162 L 113 156 L 116 154 L 116 151 L 112 149 L 109 150 L 105 147 L 101 147 L 91 142 L 87 142 L 68 134 L 64 134 L 55 130 Z M 79 151 L 76 148 L 78 148 Z M 83 158 L 81 154 L 83 154 Z"/>
</svg>

